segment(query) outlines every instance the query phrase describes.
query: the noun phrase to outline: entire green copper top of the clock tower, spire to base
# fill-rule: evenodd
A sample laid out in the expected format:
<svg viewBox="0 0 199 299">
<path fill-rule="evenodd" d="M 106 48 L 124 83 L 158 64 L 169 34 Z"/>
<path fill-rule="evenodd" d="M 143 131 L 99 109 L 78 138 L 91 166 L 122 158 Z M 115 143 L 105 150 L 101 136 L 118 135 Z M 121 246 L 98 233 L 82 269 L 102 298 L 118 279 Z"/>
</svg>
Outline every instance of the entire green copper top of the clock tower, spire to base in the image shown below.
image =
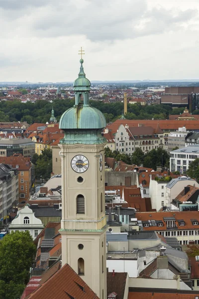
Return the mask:
<svg viewBox="0 0 199 299">
<path fill-rule="evenodd" d="M 73 84 L 75 105 L 60 119 L 59 128 L 65 132 L 64 139 L 60 141 L 62 144 L 100 144 L 105 141 L 101 135 L 106 126 L 105 118 L 100 110 L 89 105 L 91 82 L 86 78 L 83 63 L 81 58 L 80 72 Z"/>
</svg>

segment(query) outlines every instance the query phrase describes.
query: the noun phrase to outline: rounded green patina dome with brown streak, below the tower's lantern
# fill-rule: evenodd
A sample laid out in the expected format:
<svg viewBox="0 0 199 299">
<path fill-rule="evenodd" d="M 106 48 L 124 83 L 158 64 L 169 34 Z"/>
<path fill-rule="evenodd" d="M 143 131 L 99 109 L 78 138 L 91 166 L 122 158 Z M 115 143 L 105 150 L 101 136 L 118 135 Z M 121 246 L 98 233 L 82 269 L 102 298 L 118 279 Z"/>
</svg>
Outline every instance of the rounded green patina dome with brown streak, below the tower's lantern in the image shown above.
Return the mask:
<svg viewBox="0 0 199 299">
<path fill-rule="evenodd" d="M 67 110 L 61 117 L 59 128 L 67 129 L 102 129 L 106 121 L 100 110 L 90 106 L 75 106 Z"/>
</svg>

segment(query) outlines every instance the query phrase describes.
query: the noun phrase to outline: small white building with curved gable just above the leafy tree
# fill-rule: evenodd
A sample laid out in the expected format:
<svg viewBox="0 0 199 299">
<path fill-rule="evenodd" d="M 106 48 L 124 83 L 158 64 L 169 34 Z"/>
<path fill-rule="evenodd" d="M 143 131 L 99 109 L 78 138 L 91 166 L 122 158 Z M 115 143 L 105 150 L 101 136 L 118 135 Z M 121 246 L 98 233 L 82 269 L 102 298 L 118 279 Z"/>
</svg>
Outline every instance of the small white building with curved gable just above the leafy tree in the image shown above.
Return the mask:
<svg viewBox="0 0 199 299">
<path fill-rule="evenodd" d="M 9 225 L 9 231 L 29 231 L 33 240 L 44 228 L 40 219 L 34 216 L 34 212 L 26 205 L 17 212 L 16 217 Z"/>
</svg>

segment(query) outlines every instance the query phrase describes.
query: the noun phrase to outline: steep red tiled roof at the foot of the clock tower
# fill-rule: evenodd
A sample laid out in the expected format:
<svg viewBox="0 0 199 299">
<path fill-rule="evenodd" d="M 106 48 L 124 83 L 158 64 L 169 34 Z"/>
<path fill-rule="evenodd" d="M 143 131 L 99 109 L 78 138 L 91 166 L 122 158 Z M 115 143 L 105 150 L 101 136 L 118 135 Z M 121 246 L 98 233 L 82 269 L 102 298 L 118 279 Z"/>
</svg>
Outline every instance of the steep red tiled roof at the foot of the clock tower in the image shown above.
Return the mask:
<svg viewBox="0 0 199 299">
<path fill-rule="evenodd" d="M 65 264 L 47 282 L 40 286 L 29 299 L 99 299 L 77 273 Z"/>
</svg>

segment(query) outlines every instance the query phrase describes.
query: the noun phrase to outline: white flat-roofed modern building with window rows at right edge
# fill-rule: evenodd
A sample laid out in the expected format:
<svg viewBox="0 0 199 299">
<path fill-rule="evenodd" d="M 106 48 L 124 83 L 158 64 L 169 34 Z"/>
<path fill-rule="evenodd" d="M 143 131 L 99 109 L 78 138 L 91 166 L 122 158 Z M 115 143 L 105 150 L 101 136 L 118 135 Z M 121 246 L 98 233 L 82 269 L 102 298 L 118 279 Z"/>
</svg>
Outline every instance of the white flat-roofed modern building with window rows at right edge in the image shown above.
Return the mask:
<svg viewBox="0 0 199 299">
<path fill-rule="evenodd" d="M 170 156 L 170 170 L 186 173 L 189 164 L 199 158 L 199 145 L 172 150 Z"/>
</svg>

